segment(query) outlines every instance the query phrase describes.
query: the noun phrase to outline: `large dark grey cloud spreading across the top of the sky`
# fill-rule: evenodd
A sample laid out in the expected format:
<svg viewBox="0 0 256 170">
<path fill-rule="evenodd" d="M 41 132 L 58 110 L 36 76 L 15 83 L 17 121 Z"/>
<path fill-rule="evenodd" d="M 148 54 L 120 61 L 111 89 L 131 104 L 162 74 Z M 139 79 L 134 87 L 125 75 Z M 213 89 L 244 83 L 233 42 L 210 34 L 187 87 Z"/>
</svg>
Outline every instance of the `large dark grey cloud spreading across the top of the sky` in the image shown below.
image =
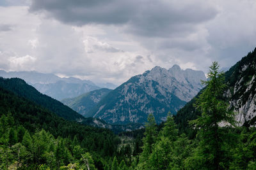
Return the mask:
<svg viewBox="0 0 256 170">
<path fill-rule="evenodd" d="M 47 16 L 72 25 L 123 24 L 125 31 L 146 37 L 186 34 L 217 14 L 214 6 L 197 0 L 179 4 L 153 0 L 32 0 L 30 11 L 45 11 Z"/>
</svg>

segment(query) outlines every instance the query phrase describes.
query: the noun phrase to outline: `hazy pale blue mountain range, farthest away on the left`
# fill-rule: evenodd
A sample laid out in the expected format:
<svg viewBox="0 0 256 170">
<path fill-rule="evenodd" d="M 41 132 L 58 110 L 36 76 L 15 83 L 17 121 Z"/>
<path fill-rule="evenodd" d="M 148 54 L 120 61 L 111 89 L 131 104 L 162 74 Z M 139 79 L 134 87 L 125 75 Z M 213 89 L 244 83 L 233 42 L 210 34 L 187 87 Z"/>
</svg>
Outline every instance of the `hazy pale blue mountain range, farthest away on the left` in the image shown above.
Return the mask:
<svg viewBox="0 0 256 170">
<path fill-rule="evenodd" d="M 36 71 L 10 71 L 0 70 L 0 76 L 4 78 L 22 78 L 39 92 L 51 96 L 54 99 L 65 99 L 77 97 L 86 92 L 100 89 L 90 80 L 81 80 L 79 78 L 60 78 L 55 74 L 38 73 Z M 115 89 L 113 83 L 101 83 L 104 88 Z"/>
</svg>

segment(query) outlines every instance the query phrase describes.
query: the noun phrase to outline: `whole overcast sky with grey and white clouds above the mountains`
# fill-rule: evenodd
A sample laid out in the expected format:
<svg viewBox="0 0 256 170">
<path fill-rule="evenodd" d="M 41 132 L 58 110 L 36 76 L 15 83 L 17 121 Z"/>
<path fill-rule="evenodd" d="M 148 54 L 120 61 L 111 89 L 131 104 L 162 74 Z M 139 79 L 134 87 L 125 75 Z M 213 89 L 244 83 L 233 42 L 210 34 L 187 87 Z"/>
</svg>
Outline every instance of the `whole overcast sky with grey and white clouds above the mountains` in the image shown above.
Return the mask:
<svg viewBox="0 0 256 170">
<path fill-rule="evenodd" d="M 120 85 L 154 66 L 230 67 L 255 39 L 255 0 L 0 1 L 5 71 Z"/>
</svg>

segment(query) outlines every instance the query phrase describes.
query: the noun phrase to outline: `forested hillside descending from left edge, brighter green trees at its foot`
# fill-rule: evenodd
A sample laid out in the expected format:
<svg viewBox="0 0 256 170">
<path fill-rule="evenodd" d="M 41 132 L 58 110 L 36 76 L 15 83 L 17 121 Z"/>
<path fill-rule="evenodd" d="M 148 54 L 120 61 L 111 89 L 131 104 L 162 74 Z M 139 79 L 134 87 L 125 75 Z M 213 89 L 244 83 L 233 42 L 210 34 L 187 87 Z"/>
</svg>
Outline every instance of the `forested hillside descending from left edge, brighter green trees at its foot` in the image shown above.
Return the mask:
<svg viewBox="0 0 256 170">
<path fill-rule="evenodd" d="M 2 87 L 0 100 L 1 169 L 58 168 L 69 163 L 83 167 L 83 160 L 78 165 L 83 157 L 93 157 L 100 167 L 116 153 L 120 140 L 107 129 L 64 120 Z"/>
</svg>

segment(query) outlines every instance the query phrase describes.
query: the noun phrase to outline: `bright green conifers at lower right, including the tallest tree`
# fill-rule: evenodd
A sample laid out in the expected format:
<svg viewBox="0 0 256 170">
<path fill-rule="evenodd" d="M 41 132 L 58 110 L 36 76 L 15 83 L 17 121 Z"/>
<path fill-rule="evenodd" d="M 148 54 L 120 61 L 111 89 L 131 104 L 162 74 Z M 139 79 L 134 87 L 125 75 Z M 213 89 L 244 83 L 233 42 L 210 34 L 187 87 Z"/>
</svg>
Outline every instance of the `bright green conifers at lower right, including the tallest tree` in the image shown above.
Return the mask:
<svg viewBox="0 0 256 170">
<path fill-rule="evenodd" d="M 218 63 L 213 62 L 209 81 L 204 82 L 205 89 L 194 99 L 196 104 L 194 101 L 190 103 L 200 113 L 191 121 L 192 127 L 183 126 L 185 123 L 182 122 L 192 117 L 183 120 L 182 115 L 177 115 L 176 122 L 183 124 L 178 126 L 178 133 L 177 125 L 169 115 L 150 145 L 152 152 L 145 152 L 149 150 L 150 141 L 146 140 L 146 127 L 143 152 L 136 169 L 255 169 L 255 127 L 245 129 L 234 125 L 234 113 L 227 110 L 228 104 L 223 97 L 224 76 L 218 68 Z M 184 110 L 189 111 L 189 108 Z M 220 127 L 220 124 L 225 126 Z M 189 140 L 182 131 L 188 132 L 189 136 L 193 132 L 196 138 Z"/>
</svg>

